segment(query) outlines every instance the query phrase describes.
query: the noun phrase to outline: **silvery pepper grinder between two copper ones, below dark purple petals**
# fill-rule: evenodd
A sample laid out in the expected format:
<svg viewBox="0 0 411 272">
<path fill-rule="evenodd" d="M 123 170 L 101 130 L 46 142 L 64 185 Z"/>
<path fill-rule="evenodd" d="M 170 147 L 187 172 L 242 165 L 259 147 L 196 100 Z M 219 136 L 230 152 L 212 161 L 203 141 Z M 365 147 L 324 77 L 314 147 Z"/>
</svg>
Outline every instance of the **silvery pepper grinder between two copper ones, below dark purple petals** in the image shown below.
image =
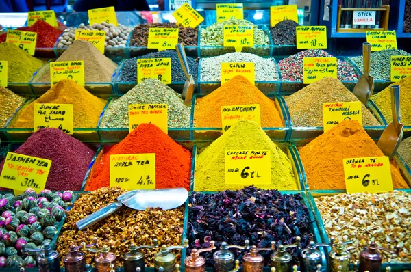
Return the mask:
<svg viewBox="0 0 411 272">
<path fill-rule="evenodd" d="M 230 248 L 236 249 L 249 249 L 250 241 L 245 240 L 244 247 L 240 245 L 227 245 L 226 242 L 221 243 L 220 249 L 215 251 L 212 255 L 214 260 L 214 272 L 228 272 L 235 269 L 234 254 L 232 251 L 229 251 Z"/>
</svg>

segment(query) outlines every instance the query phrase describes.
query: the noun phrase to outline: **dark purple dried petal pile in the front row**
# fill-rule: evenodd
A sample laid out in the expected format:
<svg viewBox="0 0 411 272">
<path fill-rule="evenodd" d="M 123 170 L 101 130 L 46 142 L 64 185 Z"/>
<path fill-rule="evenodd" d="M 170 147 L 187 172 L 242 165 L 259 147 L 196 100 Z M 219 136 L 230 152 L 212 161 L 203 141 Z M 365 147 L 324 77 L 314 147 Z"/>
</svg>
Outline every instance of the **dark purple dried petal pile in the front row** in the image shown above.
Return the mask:
<svg viewBox="0 0 411 272">
<path fill-rule="evenodd" d="M 238 191 L 220 193 L 194 193 L 189 197 L 188 239 L 190 248 L 210 247 L 214 240 L 219 248 L 221 242 L 228 245 L 250 245 L 271 247 L 295 243 L 301 238 L 301 246 L 306 247 L 312 234 L 308 208 L 301 195 L 283 195 L 277 190 L 261 190 L 245 187 Z M 297 249 L 291 249 L 297 257 Z M 235 251 L 236 254 L 241 251 Z M 260 251 L 266 262 L 272 252 Z M 237 258 L 242 258 L 240 253 Z M 212 265 L 212 253 L 204 254 L 208 265 Z"/>
</svg>

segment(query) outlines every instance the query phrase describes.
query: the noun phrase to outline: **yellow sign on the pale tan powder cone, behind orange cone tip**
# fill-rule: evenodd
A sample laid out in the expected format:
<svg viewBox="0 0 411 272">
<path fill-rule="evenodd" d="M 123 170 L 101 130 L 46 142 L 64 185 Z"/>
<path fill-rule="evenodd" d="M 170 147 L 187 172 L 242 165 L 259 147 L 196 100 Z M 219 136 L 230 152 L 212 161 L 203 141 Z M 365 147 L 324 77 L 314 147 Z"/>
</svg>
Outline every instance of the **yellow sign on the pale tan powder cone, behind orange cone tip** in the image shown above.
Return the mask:
<svg viewBox="0 0 411 272">
<path fill-rule="evenodd" d="M 57 84 L 62 79 L 71 79 L 84 87 L 84 61 L 50 62 L 51 86 Z"/>
</svg>

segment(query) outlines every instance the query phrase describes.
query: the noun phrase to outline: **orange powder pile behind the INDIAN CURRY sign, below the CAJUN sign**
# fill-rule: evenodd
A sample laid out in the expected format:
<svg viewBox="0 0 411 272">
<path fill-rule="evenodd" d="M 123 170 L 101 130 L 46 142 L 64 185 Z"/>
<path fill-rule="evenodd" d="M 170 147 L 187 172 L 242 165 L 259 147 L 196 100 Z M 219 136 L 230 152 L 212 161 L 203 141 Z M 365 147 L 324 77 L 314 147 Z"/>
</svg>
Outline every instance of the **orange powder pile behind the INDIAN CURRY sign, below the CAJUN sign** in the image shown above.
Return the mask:
<svg viewBox="0 0 411 272">
<path fill-rule="evenodd" d="M 221 128 L 222 106 L 247 104 L 260 104 L 263 128 L 284 127 L 274 101 L 242 76 L 233 77 L 211 94 L 198 98 L 195 105 L 194 124 L 200 128 Z"/>
</svg>

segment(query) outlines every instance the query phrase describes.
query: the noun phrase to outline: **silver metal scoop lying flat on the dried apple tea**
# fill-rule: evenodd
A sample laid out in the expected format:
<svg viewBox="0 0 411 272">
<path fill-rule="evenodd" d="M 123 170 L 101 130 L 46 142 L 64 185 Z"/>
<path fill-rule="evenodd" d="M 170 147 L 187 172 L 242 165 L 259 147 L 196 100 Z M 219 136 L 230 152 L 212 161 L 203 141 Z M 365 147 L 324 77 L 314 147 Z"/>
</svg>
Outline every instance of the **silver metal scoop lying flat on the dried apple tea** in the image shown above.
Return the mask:
<svg viewBox="0 0 411 272">
<path fill-rule="evenodd" d="M 88 228 L 119 210 L 123 204 L 134 210 L 145 210 L 146 208 L 171 210 L 181 206 L 187 198 L 188 192 L 184 188 L 128 191 L 119 195 L 117 202 L 110 203 L 88 217 L 77 221 L 76 225 L 79 230 Z"/>
</svg>

